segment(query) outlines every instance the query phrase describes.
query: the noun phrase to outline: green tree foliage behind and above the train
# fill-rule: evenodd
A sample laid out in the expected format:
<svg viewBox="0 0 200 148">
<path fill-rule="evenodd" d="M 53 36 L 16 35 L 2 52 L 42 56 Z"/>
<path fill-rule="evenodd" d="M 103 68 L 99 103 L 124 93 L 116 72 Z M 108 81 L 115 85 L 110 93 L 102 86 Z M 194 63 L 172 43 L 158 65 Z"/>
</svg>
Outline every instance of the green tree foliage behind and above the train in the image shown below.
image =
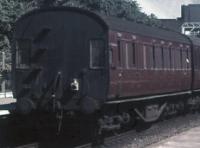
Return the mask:
<svg viewBox="0 0 200 148">
<path fill-rule="evenodd" d="M 51 6 L 73 6 L 116 16 L 150 25 L 160 25 L 156 16 L 141 12 L 137 1 L 133 0 L 1 0 L 0 1 L 0 52 L 6 53 L 6 65 L 11 64 L 11 40 L 15 21 L 24 13 L 35 8 Z M 0 68 L 1 68 L 0 53 Z M 8 68 L 10 69 L 10 68 Z"/>
</svg>

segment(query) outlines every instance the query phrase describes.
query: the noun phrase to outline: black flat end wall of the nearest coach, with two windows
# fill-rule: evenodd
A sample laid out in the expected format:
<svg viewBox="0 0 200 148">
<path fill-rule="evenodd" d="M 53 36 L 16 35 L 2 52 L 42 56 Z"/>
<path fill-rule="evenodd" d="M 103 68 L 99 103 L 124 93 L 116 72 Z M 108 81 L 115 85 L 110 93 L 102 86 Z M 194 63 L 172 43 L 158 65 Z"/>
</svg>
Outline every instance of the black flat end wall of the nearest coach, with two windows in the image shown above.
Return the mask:
<svg viewBox="0 0 200 148">
<path fill-rule="evenodd" d="M 17 22 L 14 38 L 14 92 L 22 112 L 55 99 L 73 110 L 74 102 L 89 102 L 88 109 L 104 101 L 108 35 L 99 16 L 77 8 L 35 11 Z"/>
</svg>

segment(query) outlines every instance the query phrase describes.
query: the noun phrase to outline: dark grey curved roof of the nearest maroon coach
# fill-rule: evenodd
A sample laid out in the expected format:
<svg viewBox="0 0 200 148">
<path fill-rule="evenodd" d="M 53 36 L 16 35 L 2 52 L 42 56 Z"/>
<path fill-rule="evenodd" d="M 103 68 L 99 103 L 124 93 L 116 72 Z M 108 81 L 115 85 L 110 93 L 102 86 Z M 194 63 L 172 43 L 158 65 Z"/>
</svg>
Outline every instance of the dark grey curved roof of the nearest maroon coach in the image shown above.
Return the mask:
<svg viewBox="0 0 200 148">
<path fill-rule="evenodd" d="M 178 31 L 174 32 L 167 29 L 158 28 L 155 26 L 149 26 L 146 24 L 137 23 L 134 21 L 127 21 L 127 20 L 120 19 L 117 17 L 96 14 L 91 11 L 75 8 L 75 7 L 52 7 L 52 8 L 45 8 L 45 9 L 36 9 L 23 15 L 18 21 L 30 15 L 34 15 L 34 14 L 38 14 L 42 12 L 49 12 L 49 11 L 78 12 L 80 14 L 85 14 L 92 17 L 93 19 L 98 21 L 103 27 L 105 27 L 105 29 L 111 29 L 111 30 L 116 30 L 116 31 L 121 31 L 121 32 L 130 32 L 130 33 L 135 33 L 135 34 L 139 34 L 139 35 L 143 35 L 147 37 L 190 44 L 189 39 L 185 35 L 178 33 Z"/>
</svg>

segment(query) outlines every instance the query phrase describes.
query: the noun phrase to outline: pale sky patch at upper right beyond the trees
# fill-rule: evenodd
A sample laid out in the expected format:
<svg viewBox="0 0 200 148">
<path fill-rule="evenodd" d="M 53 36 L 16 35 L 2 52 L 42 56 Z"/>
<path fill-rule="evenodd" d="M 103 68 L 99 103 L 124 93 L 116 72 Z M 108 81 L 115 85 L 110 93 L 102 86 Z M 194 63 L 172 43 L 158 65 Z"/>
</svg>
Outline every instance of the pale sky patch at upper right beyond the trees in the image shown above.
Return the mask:
<svg viewBox="0 0 200 148">
<path fill-rule="evenodd" d="M 181 5 L 200 4 L 200 0 L 137 0 L 142 11 L 155 14 L 158 18 L 181 16 Z"/>
</svg>

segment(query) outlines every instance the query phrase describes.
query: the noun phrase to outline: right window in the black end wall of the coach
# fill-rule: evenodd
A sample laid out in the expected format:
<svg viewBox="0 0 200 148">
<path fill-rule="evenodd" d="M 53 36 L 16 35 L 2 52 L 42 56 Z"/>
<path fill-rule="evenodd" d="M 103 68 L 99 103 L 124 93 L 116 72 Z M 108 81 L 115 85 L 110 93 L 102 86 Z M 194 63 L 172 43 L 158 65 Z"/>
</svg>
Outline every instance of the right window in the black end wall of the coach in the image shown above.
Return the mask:
<svg viewBox="0 0 200 148">
<path fill-rule="evenodd" d="M 104 41 L 97 39 L 90 41 L 90 68 L 103 68 L 105 66 Z"/>
</svg>

